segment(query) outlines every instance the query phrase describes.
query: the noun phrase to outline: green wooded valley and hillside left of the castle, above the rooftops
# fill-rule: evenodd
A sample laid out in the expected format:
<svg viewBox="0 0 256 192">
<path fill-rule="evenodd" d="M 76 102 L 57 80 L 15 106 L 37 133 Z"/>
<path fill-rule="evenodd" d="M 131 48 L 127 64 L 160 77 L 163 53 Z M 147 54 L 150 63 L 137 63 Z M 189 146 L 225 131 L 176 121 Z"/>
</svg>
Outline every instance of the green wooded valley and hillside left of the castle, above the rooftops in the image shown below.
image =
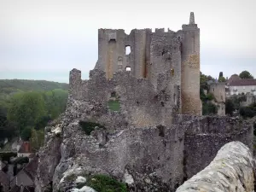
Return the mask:
<svg viewBox="0 0 256 192">
<path fill-rule="evenodd" d="M 65 111 L 68 84 L 44 80 L 0 80 L 0 147 L 21 137 L 37 149 L 44 126 Z"/>
</svg>

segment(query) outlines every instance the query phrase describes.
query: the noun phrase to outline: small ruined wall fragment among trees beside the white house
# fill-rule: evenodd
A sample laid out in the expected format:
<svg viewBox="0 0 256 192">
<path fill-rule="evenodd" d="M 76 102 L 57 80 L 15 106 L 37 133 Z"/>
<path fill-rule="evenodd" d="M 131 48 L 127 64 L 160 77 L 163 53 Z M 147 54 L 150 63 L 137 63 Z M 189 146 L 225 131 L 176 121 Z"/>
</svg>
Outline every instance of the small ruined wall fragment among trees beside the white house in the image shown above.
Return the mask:
<svg viewBox="0 0 256 192">
<path fill-rule="evenodd" d="M 216 99 L 216 105 L 218 106 L 218 115 L 224 116 L 225 115 L 225 101 L 226 101 L 226 94 L 225 94 L 225 84 L 224 83 L 212 83 L 210 84 L 209 93 L 212 93 Z"/>
</svg>

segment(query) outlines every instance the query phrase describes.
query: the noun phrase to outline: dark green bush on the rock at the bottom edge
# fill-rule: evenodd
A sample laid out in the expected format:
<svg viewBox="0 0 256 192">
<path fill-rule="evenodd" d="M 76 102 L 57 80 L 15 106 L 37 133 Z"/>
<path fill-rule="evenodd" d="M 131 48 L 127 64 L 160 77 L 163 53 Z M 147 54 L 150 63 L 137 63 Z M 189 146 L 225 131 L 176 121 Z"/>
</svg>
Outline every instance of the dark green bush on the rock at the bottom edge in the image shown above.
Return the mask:
<svg viewBox="0 0 256 192">
<path fill-rule="evenodd" d="M 128 192 L 125 183 L 121 183 L 107 175 L 98 174 L 89 177 L 86 185 L 101 192 Z M 82 188 L 83 185 L 80 185 L 79 187 Z"/>
</svg>

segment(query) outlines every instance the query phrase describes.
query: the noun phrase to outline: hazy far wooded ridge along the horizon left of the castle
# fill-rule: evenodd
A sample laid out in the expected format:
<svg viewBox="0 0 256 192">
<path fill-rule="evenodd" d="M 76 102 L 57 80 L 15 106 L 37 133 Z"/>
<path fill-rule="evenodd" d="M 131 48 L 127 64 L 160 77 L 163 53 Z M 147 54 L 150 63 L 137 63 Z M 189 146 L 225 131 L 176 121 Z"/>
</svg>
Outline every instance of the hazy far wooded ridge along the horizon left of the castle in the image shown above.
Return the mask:
<svg viewBox="0 0 256 192">
<path fill-rule="evenodd" d="M 68 84 L 45 80 L 0 79 L 0 106 L 6 106 L 10 96 L 19 91 L 67 90 Z"/>
</svg>

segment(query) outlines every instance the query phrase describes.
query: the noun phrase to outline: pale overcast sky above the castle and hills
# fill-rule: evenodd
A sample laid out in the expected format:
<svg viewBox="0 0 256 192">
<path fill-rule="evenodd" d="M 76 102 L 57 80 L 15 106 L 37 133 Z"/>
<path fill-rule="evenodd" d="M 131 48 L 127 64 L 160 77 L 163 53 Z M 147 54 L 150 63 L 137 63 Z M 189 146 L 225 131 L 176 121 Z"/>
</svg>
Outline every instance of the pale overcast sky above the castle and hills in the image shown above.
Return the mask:
<svg viewBox="0 0 256 192">
<path fill-rule="evenodd" d="M 151 3 L 152 2 L 152 3 Z M 97 29 L 201 28 L 201 72 L 256 77 L 255 0 L 0 0 L 0 79 L 68 82 L 97 60 Z"/>
</svg>

